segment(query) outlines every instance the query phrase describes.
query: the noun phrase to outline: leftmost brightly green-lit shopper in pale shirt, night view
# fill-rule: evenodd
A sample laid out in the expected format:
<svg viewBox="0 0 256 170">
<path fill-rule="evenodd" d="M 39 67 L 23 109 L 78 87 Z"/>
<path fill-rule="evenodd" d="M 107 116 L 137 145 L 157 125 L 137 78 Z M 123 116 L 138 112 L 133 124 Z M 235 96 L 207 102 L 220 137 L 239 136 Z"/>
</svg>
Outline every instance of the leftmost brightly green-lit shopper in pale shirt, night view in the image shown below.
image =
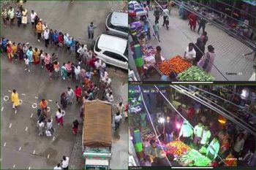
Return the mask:
<svg viewBox="0 0 256 170">
<path fill-rule="evenodd" d="M 181 139 L 185 144 L 190 144 L 193 130 L 187 120 L 181 125 L 181 131 L 178 134 L 178 139 Z"/>
</svg>

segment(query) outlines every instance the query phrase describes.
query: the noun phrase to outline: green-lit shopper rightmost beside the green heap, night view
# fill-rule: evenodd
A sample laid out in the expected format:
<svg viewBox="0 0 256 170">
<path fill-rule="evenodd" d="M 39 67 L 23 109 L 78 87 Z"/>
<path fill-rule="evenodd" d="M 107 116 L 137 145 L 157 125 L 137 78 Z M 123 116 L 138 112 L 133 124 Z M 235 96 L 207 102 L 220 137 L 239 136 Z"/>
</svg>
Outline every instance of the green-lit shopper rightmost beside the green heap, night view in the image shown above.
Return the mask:
<svg viewBox="0 0 256 170">
<path fill-rule="evenodd" d="M 217 158 L 219 152 L 219 137 L 214 136 L 211 143 L 208 145 L 206 150 L 206 156 L 211 160 L 214 161 Z"/>
</svg>

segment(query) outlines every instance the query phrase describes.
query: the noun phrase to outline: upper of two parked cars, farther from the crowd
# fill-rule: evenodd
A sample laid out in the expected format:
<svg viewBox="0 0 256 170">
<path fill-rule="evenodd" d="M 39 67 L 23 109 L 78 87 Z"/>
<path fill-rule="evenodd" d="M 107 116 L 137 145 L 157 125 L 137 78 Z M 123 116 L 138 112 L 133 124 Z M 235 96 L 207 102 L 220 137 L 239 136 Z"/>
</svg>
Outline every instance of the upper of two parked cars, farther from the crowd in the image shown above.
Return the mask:
<svg viewBox="0 0 256 170">
<path fill-rule="evenodd" d="M 110 12 L 105 23 L 107 31 L 128 36 L 128 13 Z"/>
</svg>

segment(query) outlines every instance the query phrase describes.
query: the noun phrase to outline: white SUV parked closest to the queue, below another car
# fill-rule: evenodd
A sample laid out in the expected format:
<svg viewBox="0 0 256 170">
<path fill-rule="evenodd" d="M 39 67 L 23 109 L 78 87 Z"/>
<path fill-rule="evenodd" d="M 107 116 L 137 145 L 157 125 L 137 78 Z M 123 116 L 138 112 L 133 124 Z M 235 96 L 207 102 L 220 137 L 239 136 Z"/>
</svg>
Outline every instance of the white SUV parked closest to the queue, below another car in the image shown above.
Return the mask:
<svg viewBox="0 0 256 170">
<path fill-rule="evenodd" d="M 127 36 L 106 31 L 97 37 L 94 53 L 105 63 L 128 70 Z"/>
</svg>

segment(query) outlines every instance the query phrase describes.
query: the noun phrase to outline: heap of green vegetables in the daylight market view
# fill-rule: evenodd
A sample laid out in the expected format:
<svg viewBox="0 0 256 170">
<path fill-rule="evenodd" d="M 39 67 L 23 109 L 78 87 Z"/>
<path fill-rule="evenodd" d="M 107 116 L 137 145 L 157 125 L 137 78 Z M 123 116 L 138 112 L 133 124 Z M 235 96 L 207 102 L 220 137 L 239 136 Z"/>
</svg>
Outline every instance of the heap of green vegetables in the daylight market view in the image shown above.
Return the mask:
<svg viewBox="0 0 256 170">
<path fill-rule="evenodd" d="M 214 77 L 207 74 L 197 66 L 192 66 L 187 71 L 178 74 L 178 80 L 183 82 L 211 82 Z"/>
</svg>

